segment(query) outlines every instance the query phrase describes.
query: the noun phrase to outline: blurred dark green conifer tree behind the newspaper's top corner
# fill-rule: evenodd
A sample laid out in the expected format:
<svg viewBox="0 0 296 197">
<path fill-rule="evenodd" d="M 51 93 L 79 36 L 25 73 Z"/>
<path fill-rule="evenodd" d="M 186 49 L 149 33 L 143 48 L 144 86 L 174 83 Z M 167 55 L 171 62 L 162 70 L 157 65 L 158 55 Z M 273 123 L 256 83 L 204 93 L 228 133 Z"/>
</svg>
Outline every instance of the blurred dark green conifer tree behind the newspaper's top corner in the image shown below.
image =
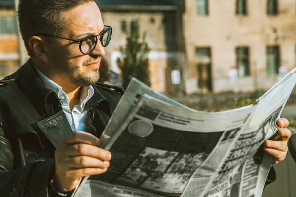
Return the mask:
<svg viewBox="0 0 296 197">
<path fill-rule="evenodd" d="M 126 38 L 126 46 L 120 47 L 122 58 L 117 65 L 122 71 L 123 88 L 126 89 L 133 77 L 151 86 L 148 53 L 150 49 L 145 42 L 146 33 L 139 39 L 138 26 L 131 23 L 130 34 Z"/>
</svg>

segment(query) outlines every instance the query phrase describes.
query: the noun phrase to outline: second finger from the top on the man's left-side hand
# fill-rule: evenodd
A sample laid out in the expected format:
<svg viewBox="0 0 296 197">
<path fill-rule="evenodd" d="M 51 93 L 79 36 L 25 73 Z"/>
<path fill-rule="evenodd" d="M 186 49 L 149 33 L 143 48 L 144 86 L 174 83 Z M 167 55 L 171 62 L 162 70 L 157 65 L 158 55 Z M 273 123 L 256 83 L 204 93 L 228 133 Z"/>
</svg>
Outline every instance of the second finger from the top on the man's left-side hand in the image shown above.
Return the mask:
<svg viewBox="0 0 296 197">
<path fill-rule="evenodd" d="M 98 148 L 93 145 L 88 144 L 74 144 L 68 145 L 65 147 L 65 153 L 67 156 L 88 156 L 97 158 L 99 160 L 107 160 L 111 159 L 111 153 L 104 149 Z"/>
</svg>

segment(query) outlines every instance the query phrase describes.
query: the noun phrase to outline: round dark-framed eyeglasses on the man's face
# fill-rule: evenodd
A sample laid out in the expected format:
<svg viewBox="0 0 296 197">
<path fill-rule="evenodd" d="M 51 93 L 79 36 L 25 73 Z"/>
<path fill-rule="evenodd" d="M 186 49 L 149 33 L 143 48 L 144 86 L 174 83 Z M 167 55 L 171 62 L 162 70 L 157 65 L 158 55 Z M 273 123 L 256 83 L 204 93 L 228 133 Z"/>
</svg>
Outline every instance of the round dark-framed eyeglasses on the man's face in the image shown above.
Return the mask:
<svg viewBox="0 0 296 197">
<path fill-rule="evenodd" d="M 70 40 L 73 42 L 80 42 L 79 48 L 81 53 L 83 53 L 84 55 L 87 55 L 87 54 L 90 54 L 96 48 L 98 44 L 98 39 L 100 40 L 102 46 L 104 47 L 108 46 L 108 44 L 110 43 L 111 36 L 112 36 L 112 27 L 107 25 L 105 25 L 105 27 L 106 28 L 98 35 L 89 35 L 79 40 L 73 40 L 73 39 L 64 38 L 64 37 L 48 35 L 46 33 L 37 33 L 35 35 L 45 35 L 45 36 L 56 37 L 64 40 Z"/>
</svg>

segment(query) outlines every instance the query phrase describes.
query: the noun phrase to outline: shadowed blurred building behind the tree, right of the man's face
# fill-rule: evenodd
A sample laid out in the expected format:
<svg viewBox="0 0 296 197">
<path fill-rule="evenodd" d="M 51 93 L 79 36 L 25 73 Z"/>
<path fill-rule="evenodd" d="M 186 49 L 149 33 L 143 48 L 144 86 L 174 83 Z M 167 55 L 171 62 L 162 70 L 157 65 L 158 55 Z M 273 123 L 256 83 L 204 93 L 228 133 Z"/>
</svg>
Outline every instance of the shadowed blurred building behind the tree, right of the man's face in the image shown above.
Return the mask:
<svg viewBox="0 0 296 197">
<path fill-rule="evenodd" d="M 113 27 L 111 43 L 106 47 L 106 60 L 118 70 L 116 60 L 125 47 L 130 27 L 138 27 L 140 37 L 146 32 L 150 48 L 151 87 L 160 92 L 174 91 L 171 71 L 184 64 L 182 0 L 99 0 L 104 24 Z M 182 63 L 183 61 L 183 63 Z"/>
</svg>

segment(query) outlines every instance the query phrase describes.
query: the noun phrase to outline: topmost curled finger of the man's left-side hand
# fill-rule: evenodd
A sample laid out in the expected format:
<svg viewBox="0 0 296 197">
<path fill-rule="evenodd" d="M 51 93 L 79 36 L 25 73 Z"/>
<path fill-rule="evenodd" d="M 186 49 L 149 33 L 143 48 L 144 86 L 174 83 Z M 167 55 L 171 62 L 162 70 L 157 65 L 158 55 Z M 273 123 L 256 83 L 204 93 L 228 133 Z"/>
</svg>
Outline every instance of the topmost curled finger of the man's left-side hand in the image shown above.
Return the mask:
<svg viewBox="0 0 296 197">
<path fill-rule="evenodd" d="M 94 135 L 84 132 L 84 131 L 75 131 L 70 136 L 64 139 L 66 144 L 89 144 L 93 146 L 100 146 L 100 140 Z"/>
</svg>

